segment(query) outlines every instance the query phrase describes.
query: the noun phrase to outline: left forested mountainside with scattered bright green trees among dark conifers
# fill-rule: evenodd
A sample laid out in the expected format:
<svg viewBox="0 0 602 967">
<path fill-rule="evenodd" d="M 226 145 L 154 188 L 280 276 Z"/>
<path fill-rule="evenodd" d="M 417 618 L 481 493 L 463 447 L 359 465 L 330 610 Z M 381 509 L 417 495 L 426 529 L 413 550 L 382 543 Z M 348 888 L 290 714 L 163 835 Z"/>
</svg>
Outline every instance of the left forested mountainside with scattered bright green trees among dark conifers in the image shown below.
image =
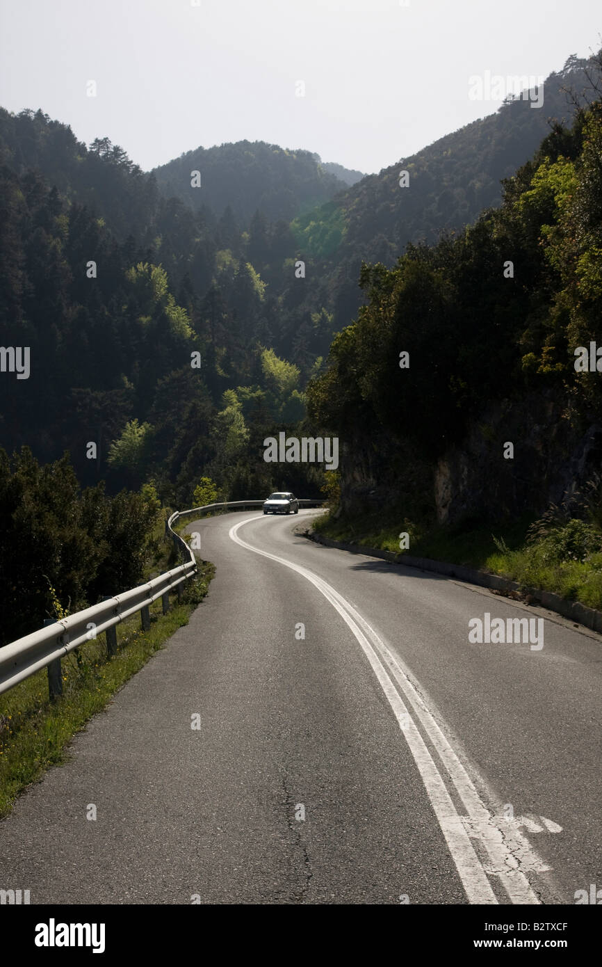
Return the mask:
<svg viewBox="0 0 602 967">
<path fill-rule="evenodd" d="M 122 149 L 87 150 L 40 111 L 2 122 L 2 344 L 28 347 L 30 360 L 21 378 L 2 373 L 0 445 L 28 444 L 43 461 L 68 450 L 85 484 L 153 479 L 179 504 L 201 473 L 233 498 L 284 485 L 261 441 L 303 416 L 331 326 L 320 314 L 304 332 L 278 319 L 253 266 L 275 246 L 268 221 L 258 213 L 242 236 L 227 211 L 193 213 Z M 296 339 L 303 373 L 279 355 Z M 306 470 L 286 483 L 306 489 Z"/>
</svg>

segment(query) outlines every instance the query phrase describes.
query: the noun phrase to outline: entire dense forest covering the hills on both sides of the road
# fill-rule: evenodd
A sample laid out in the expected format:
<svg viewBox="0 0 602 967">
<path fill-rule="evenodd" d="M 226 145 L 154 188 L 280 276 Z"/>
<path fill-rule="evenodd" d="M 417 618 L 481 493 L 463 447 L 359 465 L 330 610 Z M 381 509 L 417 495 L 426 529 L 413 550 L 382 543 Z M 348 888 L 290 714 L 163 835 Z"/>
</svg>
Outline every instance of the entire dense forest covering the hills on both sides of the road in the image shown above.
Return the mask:
<svg viewBox="0 0 602 967">
<path fill-rule="evenodd" d="M 225 499 L 318 495 L 320 468 L 263 459 L 281 430 L 340 437 L 342 506 L 359 512 L 410 493 L 442 519 L 561 495 L 598 439 L 595 374 L 570 354 L 600 310 L 599 108 L 565 90 L 594 66 L 570 58 L 543 109 L 509 101 L 403 161 L 407 189 L 401 162 L 362 178 L 263 142 L 145 173 L 105 137 L 0 109 L 4 559 L 37 528 L 59 548 L 43 589 L 123 590 L 143 552 L 131 541 L 119 571 L 106 535 L 128 533 L 136 496 L 142 527 L 201 478 Z M 500 434 L 515 461 L 492 475 Z M 101 553 L 84 586 L 69 562 L 86 532 Z"/>
</svg>

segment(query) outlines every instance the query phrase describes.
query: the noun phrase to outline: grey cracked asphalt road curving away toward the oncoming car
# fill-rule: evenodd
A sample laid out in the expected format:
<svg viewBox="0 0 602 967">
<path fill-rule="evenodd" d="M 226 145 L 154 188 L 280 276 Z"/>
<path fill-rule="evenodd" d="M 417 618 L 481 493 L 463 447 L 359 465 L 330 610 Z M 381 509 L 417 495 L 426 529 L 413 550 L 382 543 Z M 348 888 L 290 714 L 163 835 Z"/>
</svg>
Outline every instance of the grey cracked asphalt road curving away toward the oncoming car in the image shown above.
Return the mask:
<svg viewBox="0 0 602 967">
<path fill-rule="evenodd" d="M 208 598 L 0 823 L 4 889 L 536 904 L 602 886 L 602 639 L 309 542 L 315 513 L 188 525 Z M 543 647 L 471 643 L 484 612 L 543 618 Z"/>
</svg>

